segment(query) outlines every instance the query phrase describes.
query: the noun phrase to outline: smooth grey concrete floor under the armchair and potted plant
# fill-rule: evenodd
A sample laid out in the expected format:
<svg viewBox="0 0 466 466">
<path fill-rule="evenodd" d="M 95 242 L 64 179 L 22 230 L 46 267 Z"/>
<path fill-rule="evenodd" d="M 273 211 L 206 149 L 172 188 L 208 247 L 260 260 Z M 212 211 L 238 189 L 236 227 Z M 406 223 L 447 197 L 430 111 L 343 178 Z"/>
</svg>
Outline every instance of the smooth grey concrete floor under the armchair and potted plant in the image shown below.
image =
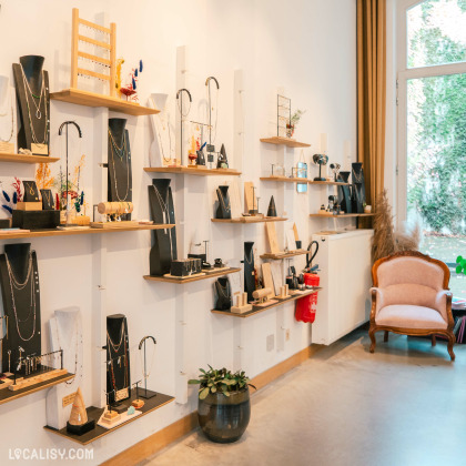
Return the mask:
<svg viewBox="0 0 466 466">
<path fill-rule="evenodd" d="M 196 430 L 150 466 L 466 465 L 466 345 L 356 331 L 253 396 L 235 444 Z"/>
</svg>

